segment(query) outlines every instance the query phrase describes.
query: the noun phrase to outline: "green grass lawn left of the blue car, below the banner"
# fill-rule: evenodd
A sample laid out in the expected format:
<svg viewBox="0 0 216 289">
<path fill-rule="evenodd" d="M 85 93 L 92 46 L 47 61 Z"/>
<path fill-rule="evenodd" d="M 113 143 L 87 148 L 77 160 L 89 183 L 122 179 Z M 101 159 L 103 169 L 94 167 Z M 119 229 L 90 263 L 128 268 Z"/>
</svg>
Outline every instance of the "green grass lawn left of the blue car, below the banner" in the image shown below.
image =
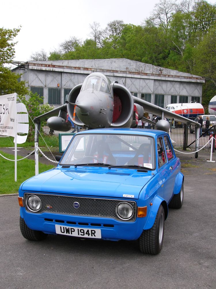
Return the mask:
<svg viewBox="0 0 216 289">
<path fill-rule="evenodd" d="M 7 138 L 8 139 L 8 138 Z M 13 139 L 13 138 L 12 138 Z M 8 145 L 12 147 L 12 145 Z M 7 146 L 6 146 L 7 147 Z M 24 146 L 23 146 L 24 147 Z M 33 148 L 34 149 L 34 148 Z M 8 159 L 14 160 L 14 155 L 4 153 L 0 150 L 0 153 Z M 17 159 L 21 159 L 21 156 L 17 156 Z M 39 163 L 39 173 L 47 171 L 55 165 L 46 165 Z M 17 181 L 14 181 L 14 162 L 5 160 L 0 156 L 0 194 L 13 194 L 18 193 L 20 184 L 33 177 L 35 175 L 35 161 L 24 159 L 17 162 Z"/>
</svg>

